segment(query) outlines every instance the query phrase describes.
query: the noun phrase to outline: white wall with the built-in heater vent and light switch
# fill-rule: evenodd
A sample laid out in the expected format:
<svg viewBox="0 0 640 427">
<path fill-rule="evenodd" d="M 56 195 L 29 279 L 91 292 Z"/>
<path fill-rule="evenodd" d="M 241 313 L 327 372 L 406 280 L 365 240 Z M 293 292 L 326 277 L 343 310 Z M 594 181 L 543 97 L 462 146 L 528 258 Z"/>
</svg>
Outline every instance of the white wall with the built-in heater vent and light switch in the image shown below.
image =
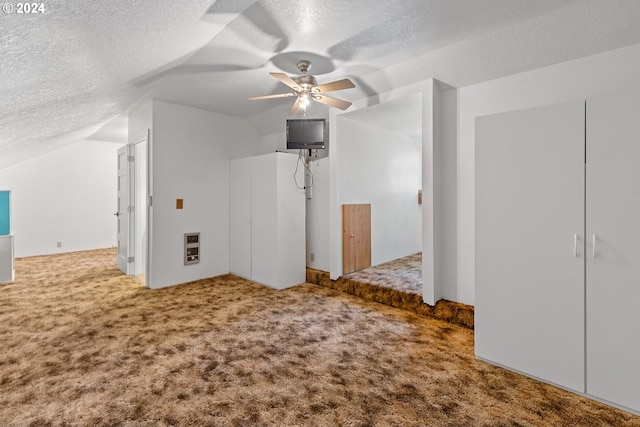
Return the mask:
<svg viewBox="0 0 640 427">
<path fill-rule="evenodd" d="M 229 158 L 261 143 L 247 120 L 153 101 L 150 287 L 229 272 Z M 200 263 L 185 266 L 188 232 L 200 232 Z"/>
</svg>

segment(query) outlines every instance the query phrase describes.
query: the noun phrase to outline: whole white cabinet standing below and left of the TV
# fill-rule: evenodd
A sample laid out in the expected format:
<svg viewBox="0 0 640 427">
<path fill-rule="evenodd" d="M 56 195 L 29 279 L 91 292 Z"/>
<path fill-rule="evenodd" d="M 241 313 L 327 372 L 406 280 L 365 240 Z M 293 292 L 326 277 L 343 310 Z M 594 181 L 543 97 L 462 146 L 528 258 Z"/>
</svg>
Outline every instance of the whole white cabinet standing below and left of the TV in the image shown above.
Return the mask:
<svg viewBox="0 0 640 427">
<path fill-rule="evenodd" d="M 230 162 L 229 271 L 276 289 L 306 279 L 305 193 L 298 156 L 269 153 Z"/>
</svg>

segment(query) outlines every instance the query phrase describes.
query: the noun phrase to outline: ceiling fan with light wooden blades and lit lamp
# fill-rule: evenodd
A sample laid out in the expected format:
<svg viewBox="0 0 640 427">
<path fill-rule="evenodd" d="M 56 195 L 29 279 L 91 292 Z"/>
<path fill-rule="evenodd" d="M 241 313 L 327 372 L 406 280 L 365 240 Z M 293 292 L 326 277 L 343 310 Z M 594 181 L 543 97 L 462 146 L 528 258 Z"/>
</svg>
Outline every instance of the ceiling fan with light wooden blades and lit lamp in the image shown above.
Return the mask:
<svg viewBox="0 0 640 427">
<path fill-rule="evenodd" d="M 350 102 L 327 96 L 325 93 L 334 92 L 336 90 L 351 89 L 356 87 L 356 85 L 354 85 L 349 79 L 336 80 L 335 82 L 318 85 L 316 78 L 311 74 L 307 74 L 310 68 L 310 61 L 301 60 L 298 62 L 298 69 L 302 74 L 297 77 L 291 78 L 284 73 L 269 73 L 281 83 L 289 86 L 291 91 L 275 95 L 252 96 L 249 100 L 255 101 L 258 99 L 286 98 L 289 96 L 295 96 L 297 98 L 293 103 L 293 107 L 291 107 L 291 115 L 295 115 L 300 111 L 305 111 L 307 105 L 309 105 L 311 101 L 321 102 L 322 104 L 326 104 L 330 107 L 336 107 L 341 110 L 349 108 L 351 105 Z"/>
</svg>

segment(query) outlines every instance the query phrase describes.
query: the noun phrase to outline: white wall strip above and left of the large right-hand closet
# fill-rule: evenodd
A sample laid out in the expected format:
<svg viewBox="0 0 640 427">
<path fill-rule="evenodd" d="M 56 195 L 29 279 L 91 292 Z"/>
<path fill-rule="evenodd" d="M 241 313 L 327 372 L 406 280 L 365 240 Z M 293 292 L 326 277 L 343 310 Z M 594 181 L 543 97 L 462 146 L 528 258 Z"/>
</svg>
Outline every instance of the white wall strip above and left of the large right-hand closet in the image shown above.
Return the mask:
<svg viewBox="0 0 640 427">
<path fill-rule="evenodd" d="M 450 299 L 466 304 L 474 303 L 475 117 L 639 87 L 640 44 L 457 91 L 458 283 L 455 289 L 446 290 Z M 445 137 L 445 144 L 453 143 L 453 135 L 449 133 Z"/>
</svg>

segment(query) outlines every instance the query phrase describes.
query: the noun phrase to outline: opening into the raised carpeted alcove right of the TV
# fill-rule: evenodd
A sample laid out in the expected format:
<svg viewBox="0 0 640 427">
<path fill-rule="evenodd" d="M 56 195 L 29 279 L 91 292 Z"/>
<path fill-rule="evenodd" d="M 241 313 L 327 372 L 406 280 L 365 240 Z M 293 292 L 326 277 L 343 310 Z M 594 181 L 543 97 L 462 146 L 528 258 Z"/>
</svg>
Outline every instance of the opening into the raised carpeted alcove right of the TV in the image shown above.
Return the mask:
<svg viewBox="0 0 640 427">
<path fill-rule="evenodd" d="M 343 267 L 341 275 L 422 295 L 422 93 L 340 114 L 337 122 L 338 202 L 370 204 L 371 223 L 371 265 Z M 344 239 L 354 240 L 343 232 L 343 266 L 350 256 Z"/>
</svg>

